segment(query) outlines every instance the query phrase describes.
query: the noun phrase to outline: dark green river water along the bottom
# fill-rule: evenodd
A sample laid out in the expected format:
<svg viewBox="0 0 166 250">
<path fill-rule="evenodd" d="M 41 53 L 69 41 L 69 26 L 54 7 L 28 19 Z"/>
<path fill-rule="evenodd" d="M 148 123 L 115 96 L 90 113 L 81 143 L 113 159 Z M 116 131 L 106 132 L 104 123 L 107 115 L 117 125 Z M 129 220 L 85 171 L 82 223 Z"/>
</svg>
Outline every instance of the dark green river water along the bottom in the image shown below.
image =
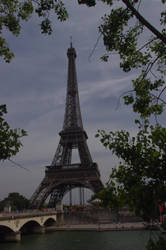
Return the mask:
<svg viewBox="0 0 166 250">
<path fill-rule="evenodd" d="M 145 250 L 149 231 L 52 232 L 0 243 L 0 250 Z"/>
</svg>

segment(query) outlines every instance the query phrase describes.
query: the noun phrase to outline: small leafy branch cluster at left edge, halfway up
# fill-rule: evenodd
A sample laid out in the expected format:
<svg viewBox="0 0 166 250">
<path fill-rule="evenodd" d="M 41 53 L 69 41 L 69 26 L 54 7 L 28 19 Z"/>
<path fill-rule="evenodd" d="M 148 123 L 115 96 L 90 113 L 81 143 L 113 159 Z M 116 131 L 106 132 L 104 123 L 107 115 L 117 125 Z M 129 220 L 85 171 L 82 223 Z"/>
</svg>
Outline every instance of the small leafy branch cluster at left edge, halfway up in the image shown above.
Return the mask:
<svg viewBox="0 0 166 250">
<path fill-rule="evenodd" d="M 26 135 L 22 129 L 11 129 L 5 121 L 4 115 L 7 113 L 6 105 L 0 106 L 0 161 L 9 159 L 19 152 L 22 143 L 20 138 Z"/>
</svg>

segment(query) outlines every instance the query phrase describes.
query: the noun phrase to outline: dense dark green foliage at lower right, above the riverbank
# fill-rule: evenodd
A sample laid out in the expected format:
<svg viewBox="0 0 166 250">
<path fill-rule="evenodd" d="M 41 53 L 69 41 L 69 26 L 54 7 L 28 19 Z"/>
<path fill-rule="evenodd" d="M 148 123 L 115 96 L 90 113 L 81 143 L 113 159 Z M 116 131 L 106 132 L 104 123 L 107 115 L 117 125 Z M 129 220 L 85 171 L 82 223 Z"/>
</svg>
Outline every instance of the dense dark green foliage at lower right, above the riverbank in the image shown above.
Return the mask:
<svg viewBox="0 0 166 250">
<path fill-rule="evenodd" d="M 122 205 L 128 204 L 146 221 L 157 218 L 158 201 L 166 200 L 166 129 L 160 125 L 149 126 L 146 121 L 136 137 L 124 130 L 109 134 L 103 130 L 98 132 L 96 136 L 103 145 L 120 159 L 106 188 L 107 192 L 110 190 L 110 197 L 116 193 L 117 200 L 119 196 L 123 199 Z"/>
</svg>

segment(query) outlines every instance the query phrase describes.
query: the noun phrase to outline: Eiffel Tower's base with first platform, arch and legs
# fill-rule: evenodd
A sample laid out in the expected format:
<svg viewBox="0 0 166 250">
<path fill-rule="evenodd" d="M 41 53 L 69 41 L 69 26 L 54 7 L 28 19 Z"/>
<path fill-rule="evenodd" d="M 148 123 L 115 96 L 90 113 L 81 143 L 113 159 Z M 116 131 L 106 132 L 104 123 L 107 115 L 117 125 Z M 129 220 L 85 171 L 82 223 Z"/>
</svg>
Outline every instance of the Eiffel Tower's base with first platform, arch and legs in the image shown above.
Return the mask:
<svg viewBox="0 0 166 250">
<path fill-rule="evenodd" d="M 40 208 L 50 195 L 48 206 L 55 208 L 62 202 L 64 195 L 74 188 L 87 188 L 94 193 L 103 188 L 96 163 L 87 168 L 79 164 L 67 168 L 47 166 L 45 178 L 31 198 L 31 207 Z"/>
</svg>

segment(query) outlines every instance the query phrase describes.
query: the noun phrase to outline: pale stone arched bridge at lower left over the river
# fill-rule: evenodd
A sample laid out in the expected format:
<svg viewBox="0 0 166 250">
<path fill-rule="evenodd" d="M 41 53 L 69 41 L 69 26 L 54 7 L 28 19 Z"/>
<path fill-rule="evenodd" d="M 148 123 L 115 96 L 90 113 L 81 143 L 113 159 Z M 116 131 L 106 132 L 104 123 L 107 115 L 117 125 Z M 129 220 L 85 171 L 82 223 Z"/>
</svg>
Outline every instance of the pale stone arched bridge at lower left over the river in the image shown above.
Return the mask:
<svg viewBox="0 0 166 250">
<path fill-rule="evenodd" d="M 0 241 L 20 241 L 21 234 L 54 230 L 57 212 L 8 214 L 0 217 Z"/>
</svg>

